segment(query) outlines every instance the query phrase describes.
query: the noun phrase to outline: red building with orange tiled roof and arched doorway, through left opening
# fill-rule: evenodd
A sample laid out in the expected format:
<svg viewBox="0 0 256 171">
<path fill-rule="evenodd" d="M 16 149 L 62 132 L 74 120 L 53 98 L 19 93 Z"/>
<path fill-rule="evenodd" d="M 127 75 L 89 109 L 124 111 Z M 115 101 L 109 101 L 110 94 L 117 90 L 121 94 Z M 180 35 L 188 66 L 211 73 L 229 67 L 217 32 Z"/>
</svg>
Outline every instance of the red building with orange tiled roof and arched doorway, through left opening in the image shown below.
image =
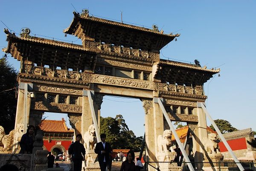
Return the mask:
<svg viewBox="0 0 256 171">
<path fill-rule="evenodd" d="M 61 121 L 42 120 L 39 125 L 44 130 L 44 150 L 55 154 L 68 154 L 67 150 L 74 136 L 74 130 L 67 128 L 64 118 Z"/>
</svg>

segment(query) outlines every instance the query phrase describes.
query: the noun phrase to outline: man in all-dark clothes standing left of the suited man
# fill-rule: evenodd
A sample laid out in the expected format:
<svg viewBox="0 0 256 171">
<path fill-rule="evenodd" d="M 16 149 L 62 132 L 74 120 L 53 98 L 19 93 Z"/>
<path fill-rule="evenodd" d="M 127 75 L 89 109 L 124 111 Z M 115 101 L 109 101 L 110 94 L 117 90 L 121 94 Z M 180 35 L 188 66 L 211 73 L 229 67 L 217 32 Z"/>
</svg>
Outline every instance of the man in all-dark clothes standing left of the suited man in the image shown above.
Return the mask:
<svg viewBox="0 0 256 171">
<path fill-rule="evenodd" d="M 68 148 L 69 158 L 71 160 L 71 165 L 73 164 L 73 171 L 81 171 L 82 170 L 82 161 L 84 161 L 85 157 L 85 148 L 84 145 L 80 143 L 82 139 L 81 134 L 76 135 L 76 142 L 72 143 Z"/>
</svg>

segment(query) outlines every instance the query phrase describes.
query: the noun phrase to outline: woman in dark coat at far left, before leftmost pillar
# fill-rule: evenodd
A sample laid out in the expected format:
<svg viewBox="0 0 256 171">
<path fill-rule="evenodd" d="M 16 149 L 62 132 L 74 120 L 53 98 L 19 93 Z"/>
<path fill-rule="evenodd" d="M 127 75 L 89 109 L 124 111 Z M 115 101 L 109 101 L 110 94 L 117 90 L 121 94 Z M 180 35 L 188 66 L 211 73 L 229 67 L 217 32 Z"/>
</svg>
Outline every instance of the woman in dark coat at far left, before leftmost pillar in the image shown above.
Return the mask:
<svg viewBox="0 0 256 171">
<path fill-rule="evenodd" d="M 27 132 L 23 134 L 20 139 L 20 154 L 32 154 L 34 143 L 34 131 L 35 127 L 29 125 Z"/>
</svg>

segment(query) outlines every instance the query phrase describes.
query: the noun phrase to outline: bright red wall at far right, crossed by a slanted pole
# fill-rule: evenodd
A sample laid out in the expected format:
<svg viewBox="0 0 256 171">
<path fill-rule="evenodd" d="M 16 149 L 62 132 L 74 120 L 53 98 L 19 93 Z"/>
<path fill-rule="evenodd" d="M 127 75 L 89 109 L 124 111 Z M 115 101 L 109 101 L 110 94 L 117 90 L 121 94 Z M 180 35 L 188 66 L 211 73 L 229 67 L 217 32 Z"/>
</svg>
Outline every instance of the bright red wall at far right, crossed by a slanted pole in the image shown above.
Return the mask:
<svg viewBox="0 0 256 171">
<path fill-rule="evenodd" d="M 243 149 L 247 149 L 246 139 L 245 139 L 245 138 L 227 140 L 227 143 L 228 143 L 228 145 L 230 145 L 230 148 L 231 148 L 233 151 L 234 151 L 234 150 L 243 150 Z M 226 151 L 228 151 L 223 142 L 219 142 L 218 145 L 219 145 L 219 147 L 220 147 L 220 151 L 221 151 L 221 152 L 226 152 Z"/>
</svg>

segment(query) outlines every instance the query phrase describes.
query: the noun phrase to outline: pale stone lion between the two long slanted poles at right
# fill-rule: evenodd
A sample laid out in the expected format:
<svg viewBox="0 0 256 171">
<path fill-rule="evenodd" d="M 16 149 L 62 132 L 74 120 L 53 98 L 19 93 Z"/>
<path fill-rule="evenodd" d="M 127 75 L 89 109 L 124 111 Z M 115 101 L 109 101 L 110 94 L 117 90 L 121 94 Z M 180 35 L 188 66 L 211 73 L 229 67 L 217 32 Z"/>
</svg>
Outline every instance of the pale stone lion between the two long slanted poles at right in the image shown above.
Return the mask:
<svg viewBox="0 0 256 171">
<path fill-rule="evenodd" d="M 163 136 L 159 135 L 157 137 L 158 151 L 160 153 L 165 153 L 169 151 L 169 148 L 172 146 L 172 131 L 164 130 Z"/>
</svg>

